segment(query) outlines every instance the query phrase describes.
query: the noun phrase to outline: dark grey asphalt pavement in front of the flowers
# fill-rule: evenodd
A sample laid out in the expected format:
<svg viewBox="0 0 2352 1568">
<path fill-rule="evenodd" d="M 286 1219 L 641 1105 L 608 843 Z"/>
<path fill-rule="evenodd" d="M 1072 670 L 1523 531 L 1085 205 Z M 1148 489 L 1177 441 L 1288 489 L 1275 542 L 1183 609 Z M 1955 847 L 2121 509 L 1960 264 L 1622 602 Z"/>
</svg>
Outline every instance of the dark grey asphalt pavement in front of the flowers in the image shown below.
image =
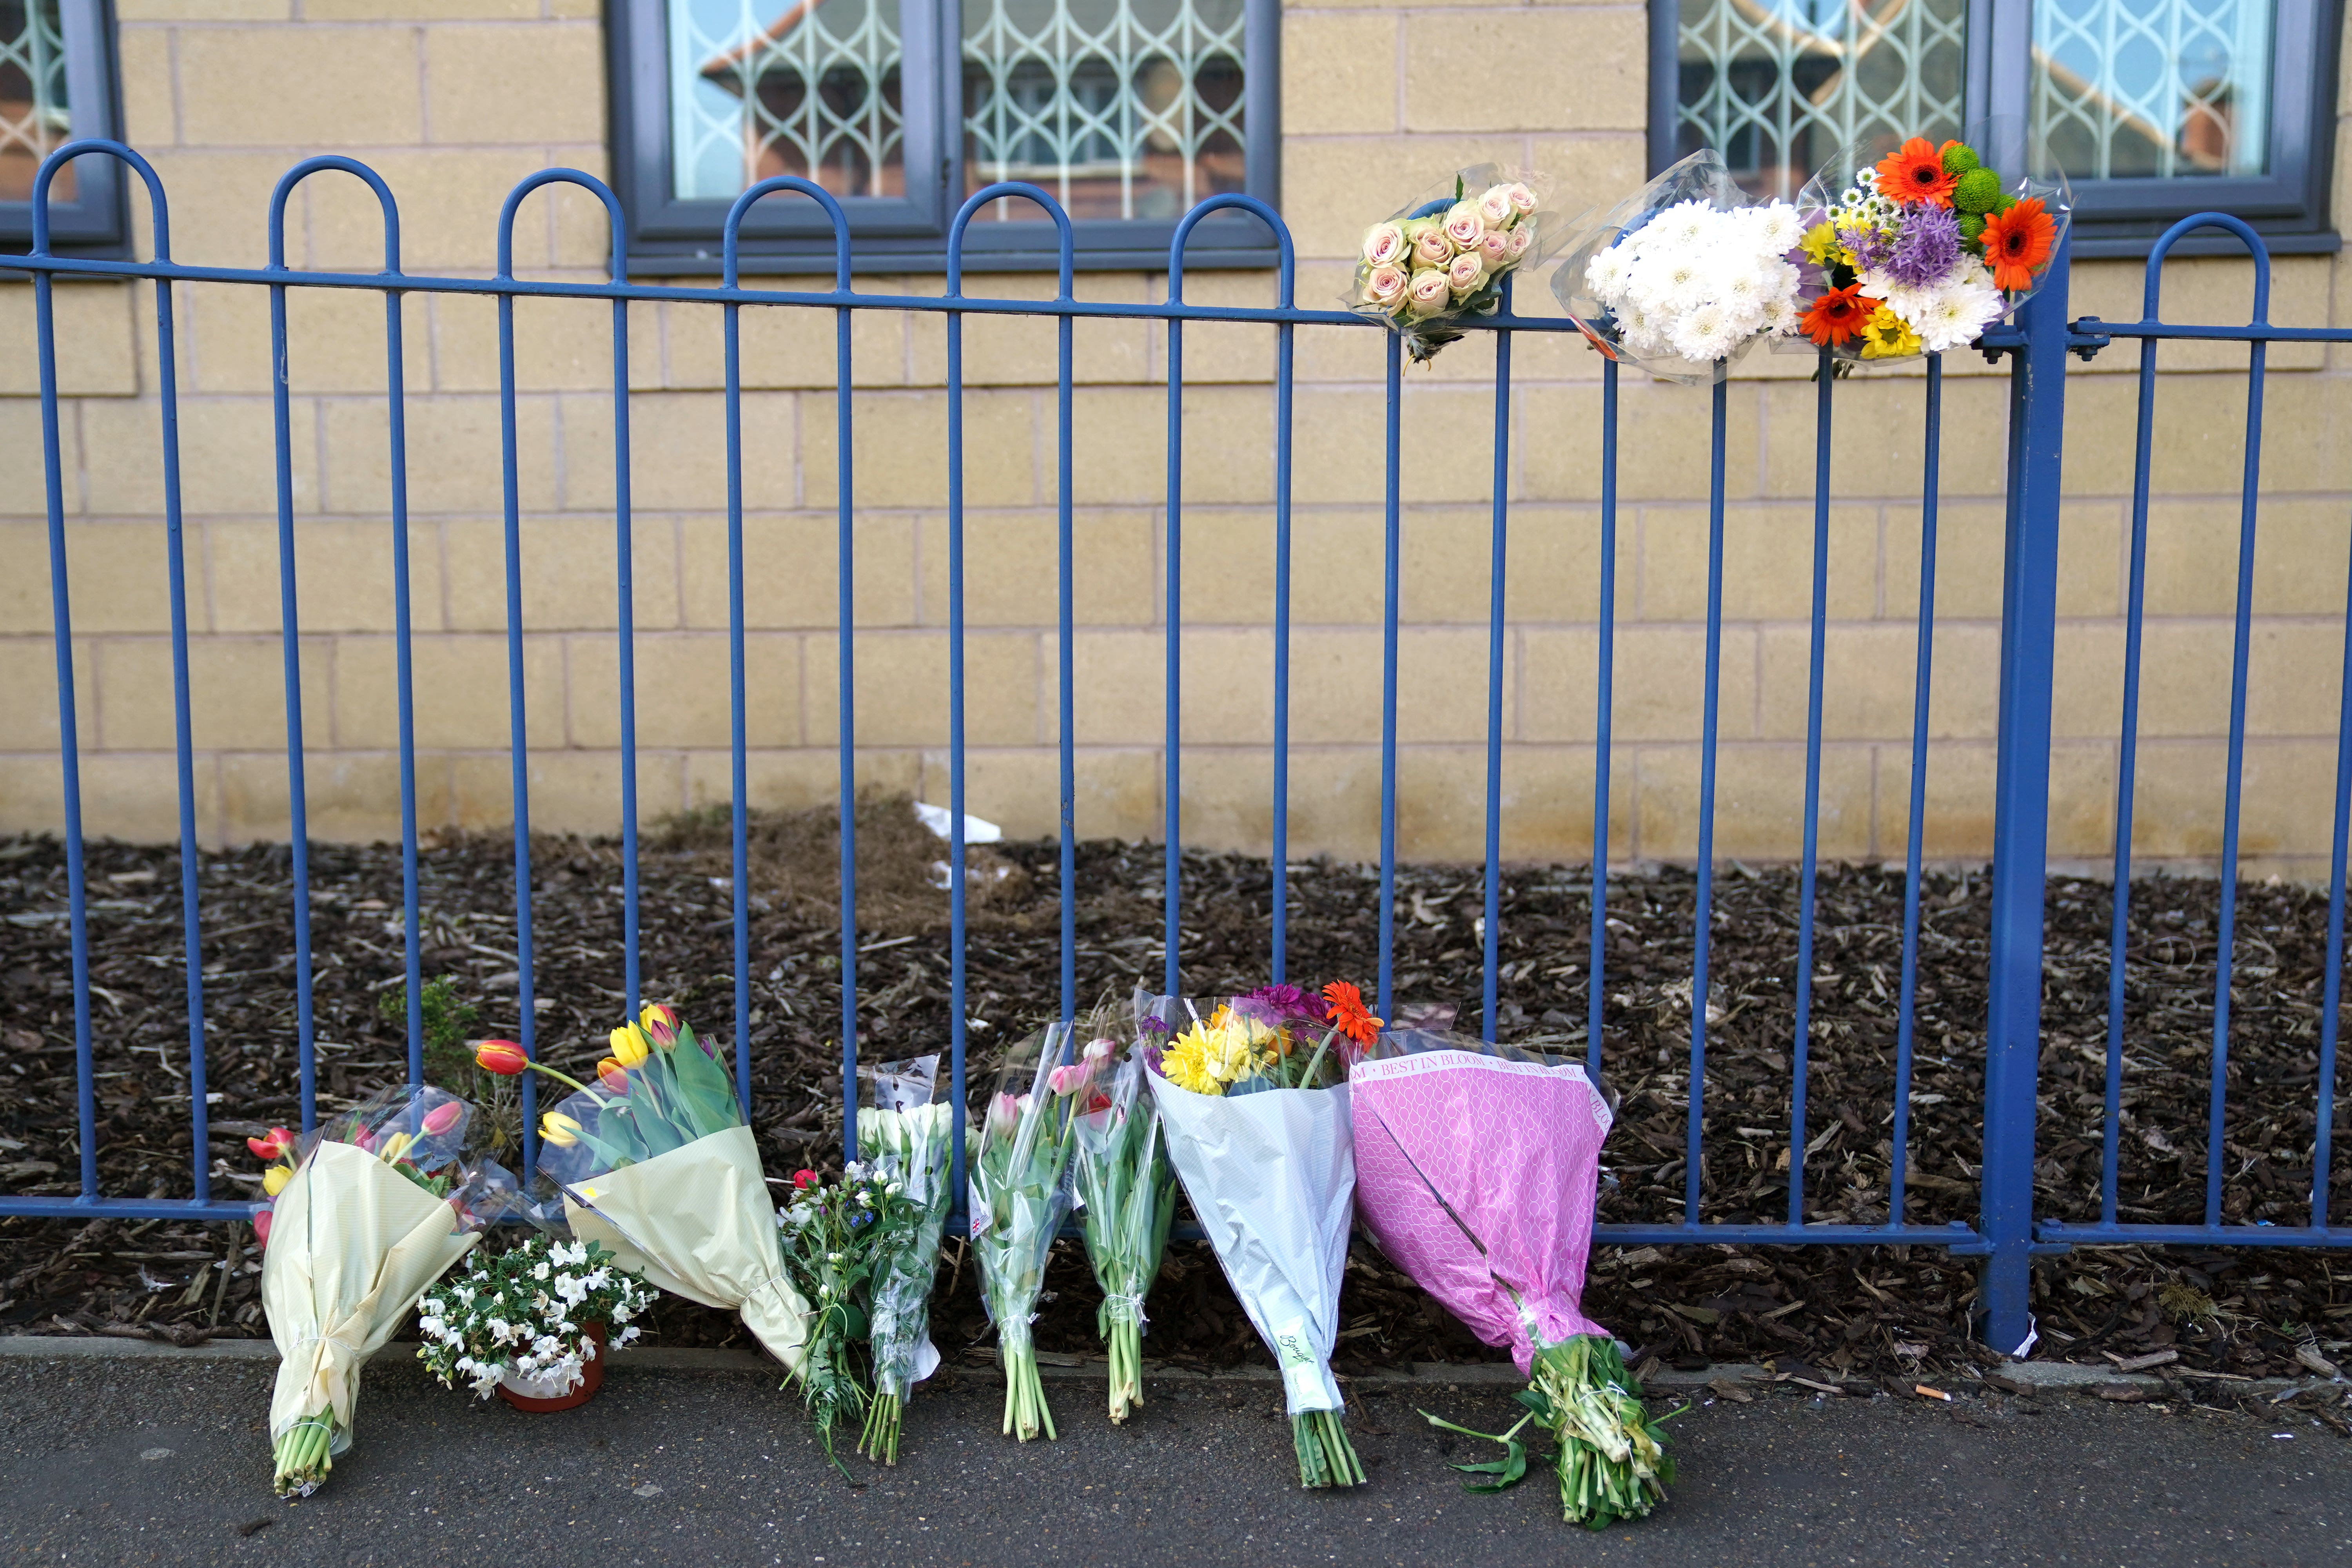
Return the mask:
<svg viewBox="0 0 2352 1568">
<path fill-rule="evenodd" d="M 1369 1486 L 1303 1493 L 1279 1389 L 1152 1392 L 1124 1427 L 1056 1378 L 1061 1441 L 997 1434 L 1002 1385 L 917 1392 L 896 1469 L 826 1465 L 764 1373 L 614 1361 L 604 1392 L 520 1415 L 386 1354 L 358 1441 L 308 1500 L 270 1495 L 270 1361 L 0 1359 L 0 1552 L 42 1563 L 637 1563 L 823 1568 L 1061 1563 L 2070 1563 L 2352 1561 L 2352 1443 L 2256 1420 L 2002 1394 L 1698 1403 L 1651 1519 L 1559 1521 L 1548 1472 L 1465 1495 L 1428 1406 L 1512 1420 L 1508 1389 L 1421 1382 L 1350 1418 Z M 1489 1425 L 1491 1422 L 1491 1425 Z M 1470 1455 L 1451 1439 L 1451 1458 Z"/>
</svg>

